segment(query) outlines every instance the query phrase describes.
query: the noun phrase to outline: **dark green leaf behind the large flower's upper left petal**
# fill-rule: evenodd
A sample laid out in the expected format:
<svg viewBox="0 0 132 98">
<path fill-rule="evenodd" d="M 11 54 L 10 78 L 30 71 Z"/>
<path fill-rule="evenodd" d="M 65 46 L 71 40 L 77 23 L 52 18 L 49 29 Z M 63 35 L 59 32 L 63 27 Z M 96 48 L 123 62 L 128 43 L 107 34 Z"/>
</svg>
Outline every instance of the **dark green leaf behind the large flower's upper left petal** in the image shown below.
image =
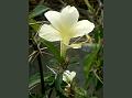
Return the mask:
<svg viewBox="0 0 132 98">
<path fill-rule="evenodd" d="M 34 17 L 37 17 L 40 14 L 42 14 L 43 12 L 50 10 L 50 8 L 38 4 L 36 6 L 36 8 L 30 13 L 29 19 L 32 19 Z"/>
</svg>

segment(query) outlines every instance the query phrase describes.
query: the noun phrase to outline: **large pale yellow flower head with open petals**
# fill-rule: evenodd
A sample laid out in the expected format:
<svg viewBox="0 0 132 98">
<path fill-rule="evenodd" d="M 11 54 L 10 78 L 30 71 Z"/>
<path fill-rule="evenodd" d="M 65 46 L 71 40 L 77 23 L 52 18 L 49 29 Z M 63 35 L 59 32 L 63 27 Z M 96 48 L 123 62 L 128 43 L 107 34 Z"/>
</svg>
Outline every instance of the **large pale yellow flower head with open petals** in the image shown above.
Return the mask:
<svg viewBox="0 0 132 98">
<path fill-rule="evenodd" d="M 51 24 L 43 24 L 38 35 L 50 42 L 62 41 L 65 45 L 69 45 L 70 39 L 88 34 L 95 28 L 88 20 L 78 21 L 79 12 L 70 6 L 61 12 L 47 11 L 45 17 Z"/>
</svg>

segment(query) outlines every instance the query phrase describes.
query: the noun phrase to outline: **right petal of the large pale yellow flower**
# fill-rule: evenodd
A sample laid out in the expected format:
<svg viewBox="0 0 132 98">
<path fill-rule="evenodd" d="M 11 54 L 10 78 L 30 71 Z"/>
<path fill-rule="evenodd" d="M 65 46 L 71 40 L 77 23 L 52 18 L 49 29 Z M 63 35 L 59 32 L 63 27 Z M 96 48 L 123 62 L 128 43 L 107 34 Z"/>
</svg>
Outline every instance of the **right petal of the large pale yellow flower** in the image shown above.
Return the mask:
<svg viewBox="0 0 132 98">
<path fill-rule="evenodd" d="M 90 33 L 95 29 L 95 24 L 88 20 L 82 20 L 77 22 L 74 26 L 74 37 L 82 36 L 85 34 Z"/>
</svg>

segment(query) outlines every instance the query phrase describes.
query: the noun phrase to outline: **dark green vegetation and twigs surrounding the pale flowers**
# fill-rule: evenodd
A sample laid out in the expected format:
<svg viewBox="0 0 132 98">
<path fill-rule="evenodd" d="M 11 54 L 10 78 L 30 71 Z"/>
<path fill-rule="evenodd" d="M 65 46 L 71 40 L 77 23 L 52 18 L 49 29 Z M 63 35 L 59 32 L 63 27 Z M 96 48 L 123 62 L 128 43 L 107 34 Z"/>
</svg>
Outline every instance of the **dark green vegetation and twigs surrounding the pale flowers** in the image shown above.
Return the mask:
<svg viewBox="0 0 132 98">
<path fill-rule="evenodd" d="M 63 63 L 68 65 L 69 70 L 75 70 L 77 76 L 73 81 L 73 88 L 61 92 L 61 89 L 65 89 L 65 83 L 59 78 L 62 76 L 55 79 L 55 72 L 63 61 L 59 57 L 59 42 L 41 40 L 37 30 L 43 23 L 48 23 L 44 17 L 46 11 L 61 11 L 68 4 L 78 9 L 79 20 L 87 19 L 94 22 L 96 28 L 90 33 L 92 45 L 85 43 L 81 48 L 68 50 L 68 59 Z M 77 40 L 82 42 L 86 37 Z M 102 98 L 103 1 L 30 0 L 29 66 L 29 98 Z"/>
</svg>

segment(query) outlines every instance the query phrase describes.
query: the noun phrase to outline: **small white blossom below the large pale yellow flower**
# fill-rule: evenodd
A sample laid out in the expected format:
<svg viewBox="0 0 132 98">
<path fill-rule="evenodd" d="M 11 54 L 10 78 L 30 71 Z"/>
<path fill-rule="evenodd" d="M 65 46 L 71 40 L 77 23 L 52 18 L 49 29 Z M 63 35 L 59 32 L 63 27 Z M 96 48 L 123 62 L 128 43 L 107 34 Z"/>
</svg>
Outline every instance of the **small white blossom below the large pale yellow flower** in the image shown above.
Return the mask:
<svg viewBox="0 0 132 98">
<path fill-rule="evenodd" d="M 70 84 L 75 76 L 76 76 L 75 72 L 70 73 L 69 70 L 65 70 L 63 74 L 63 80 L 66 81 L 67 84 Z"/>
</svg>

